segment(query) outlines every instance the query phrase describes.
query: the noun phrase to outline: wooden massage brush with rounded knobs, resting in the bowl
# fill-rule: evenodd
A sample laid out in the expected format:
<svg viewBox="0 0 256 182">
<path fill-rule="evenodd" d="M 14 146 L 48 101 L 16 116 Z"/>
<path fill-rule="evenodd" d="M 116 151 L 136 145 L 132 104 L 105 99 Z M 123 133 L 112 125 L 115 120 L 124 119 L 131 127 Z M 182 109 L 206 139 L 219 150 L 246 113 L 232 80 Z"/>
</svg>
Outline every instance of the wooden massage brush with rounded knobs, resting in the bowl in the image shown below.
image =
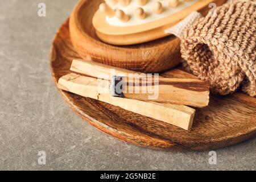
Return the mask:
<svg viewBox="0 0 256 182">
<path fill-rule="evenodd" d="M 114 45 L 144 43 L 170 35 L 165 32 L 167 28 L 193 11 L 208 8 L 213 2 L 216 1 L 106 0 L 94 14 L 93 26 L 103 42 Z"/>
</svg>

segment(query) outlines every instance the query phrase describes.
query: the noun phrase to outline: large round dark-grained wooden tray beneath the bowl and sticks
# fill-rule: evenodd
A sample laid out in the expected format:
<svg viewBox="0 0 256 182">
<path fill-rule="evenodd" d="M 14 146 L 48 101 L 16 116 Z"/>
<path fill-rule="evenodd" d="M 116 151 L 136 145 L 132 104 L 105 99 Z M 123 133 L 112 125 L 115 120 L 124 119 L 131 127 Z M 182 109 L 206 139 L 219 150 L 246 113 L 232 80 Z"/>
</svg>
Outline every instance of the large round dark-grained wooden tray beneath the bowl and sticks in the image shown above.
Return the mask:
<svg viewBox="0 0 256 182">
<path fill-rule="evenodd" d="M 70 73 L 71 61 L 76 58 L 80 56 L 72 46 L 67 20 L 57 32 L 51 48 L 51 71 L 55 83 Z M 208 107 L 197 109 L 192 131 L 185 131 L 104 102 L 62 90 L 59 92 L 85 121 L 115 138 L 138 146 L 213 150 L 256 135 L 256 98 L 242 93 L 211 96 Z"/>
</svg>

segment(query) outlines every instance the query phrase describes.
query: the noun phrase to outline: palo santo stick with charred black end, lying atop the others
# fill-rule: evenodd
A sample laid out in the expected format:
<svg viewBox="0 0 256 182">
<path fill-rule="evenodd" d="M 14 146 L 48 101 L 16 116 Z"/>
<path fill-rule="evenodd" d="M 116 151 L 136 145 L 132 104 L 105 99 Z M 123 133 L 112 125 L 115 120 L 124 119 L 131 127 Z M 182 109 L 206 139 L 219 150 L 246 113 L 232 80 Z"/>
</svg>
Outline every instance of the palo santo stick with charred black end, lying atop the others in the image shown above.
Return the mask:
<svg viewBox="0 0 256 182">
<path fill-rule="evenodd" d="M 115 97 L 195 107 L 209 104 L 209 83 L 198 79 L 114 76 L 110 93 Z"/>
</svg>

